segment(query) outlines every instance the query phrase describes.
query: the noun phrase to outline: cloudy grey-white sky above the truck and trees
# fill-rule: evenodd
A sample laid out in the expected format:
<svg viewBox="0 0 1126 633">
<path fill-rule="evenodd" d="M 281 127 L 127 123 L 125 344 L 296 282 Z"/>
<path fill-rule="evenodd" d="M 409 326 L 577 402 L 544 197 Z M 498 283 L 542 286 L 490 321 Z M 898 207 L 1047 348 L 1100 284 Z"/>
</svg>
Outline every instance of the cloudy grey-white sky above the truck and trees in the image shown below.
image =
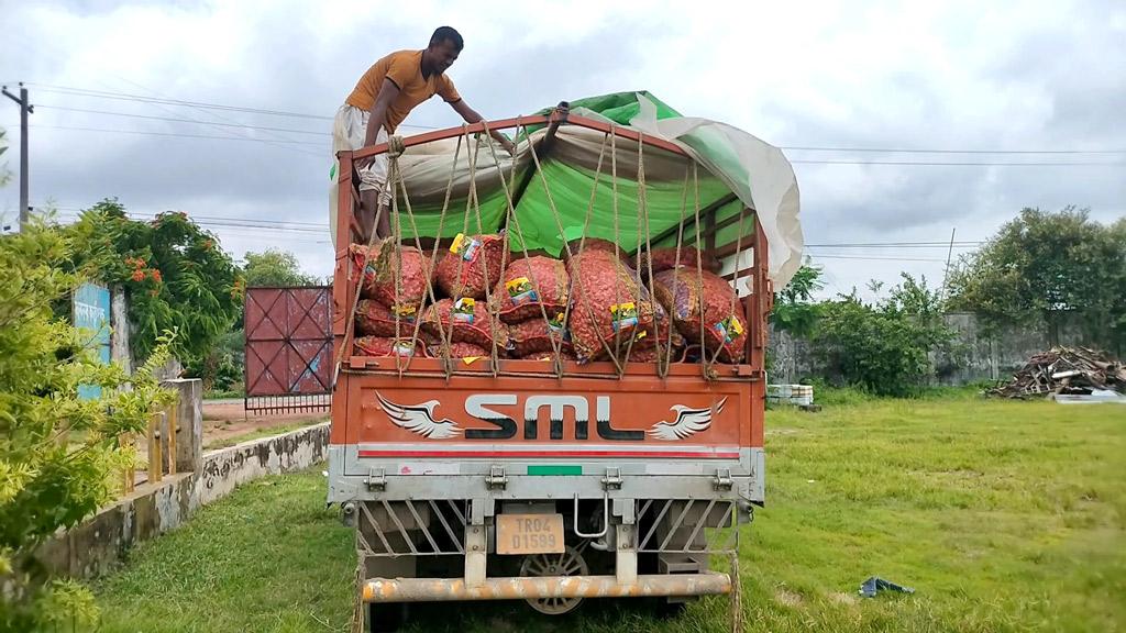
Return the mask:
<svg viewBox="0 0 1126 633">
<path fill-rule="evenodd" d="M 138 214 L 305 223 L 208 228 L 238 258 L 284 248 L 318 275 L 332 269 L 328 118 L 375 60 L 423 47 L 443 24 L 466 42 L 448 72 L 489 118 L 644 89 L 783 148 L 1076 152 L 786 150 L 810 244 L 945 241 L 951 229 L 973 242 L 1024 206 L 1126 215 L 1126 2 L 756 5 L 0 0 L 0 81 L 32 83 L 33 205 L 54 203 L 65 216 L 117 196 Z M 14 176 L 18 121 L 16 105 L 0 101 Z M 458 118 L 434 99 L 406 123 Z M 14 179 L 0 189 L 6 223 L 17 207 Z M 901 270 L 940 283 L 946 258 L 946 248 L 808 252 L 830 292 Z"/>
</svg>

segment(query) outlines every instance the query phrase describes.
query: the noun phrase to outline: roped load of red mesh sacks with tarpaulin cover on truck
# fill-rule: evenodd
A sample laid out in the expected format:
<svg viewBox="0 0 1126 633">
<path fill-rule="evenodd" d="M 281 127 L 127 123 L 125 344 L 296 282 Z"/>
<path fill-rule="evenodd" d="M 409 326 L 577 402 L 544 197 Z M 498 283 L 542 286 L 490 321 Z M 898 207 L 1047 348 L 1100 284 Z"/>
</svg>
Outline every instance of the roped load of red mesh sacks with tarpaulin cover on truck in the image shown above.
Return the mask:
<svg viewBox="0 0 1126 633">
<path fill-rule="evenodd" d="M 752 142 L 721 142 L 734 130 L 722 124 L 661 119 L 667 107 L 643 93 L 598 99 L 587 100 L 598 112 L 561 106 L 341 152 L 341 208 L 358 199 L 354 161 L 369 155 L 386 152 L 394 194 L 373 224 L 390 213 L 390 237 L 355 213 L 337 225 L 348 233 L 340 362 L 384 358 L 402 376 L 437 358 L 447 377 L 482 360 L 493 376 L 545 377 L 598 364 L 607 376 L 579 373 L 620 377 L 643 363 L 662 377 L 696 364 L 712 380 L 717 365 L 760 366 L 767 279 L 801 259 L 789 163 L 745 133 Z M 492 128 L 515 130 L 515 157 Z M 768 213 L 750 190 L 763 161 L 754 185 Z M 784 260 L 768 270 L 775 252 Z"/>
</svg>

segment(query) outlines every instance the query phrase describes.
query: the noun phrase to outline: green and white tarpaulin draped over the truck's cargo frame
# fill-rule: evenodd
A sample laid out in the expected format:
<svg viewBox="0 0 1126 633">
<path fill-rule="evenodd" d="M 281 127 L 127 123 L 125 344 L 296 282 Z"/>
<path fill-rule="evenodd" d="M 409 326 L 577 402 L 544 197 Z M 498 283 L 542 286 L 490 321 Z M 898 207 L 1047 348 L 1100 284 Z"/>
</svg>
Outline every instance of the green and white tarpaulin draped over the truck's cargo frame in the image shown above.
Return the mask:
<svg viewBox="0 0 1126 633">
<path fill-rule="evenodd" d="M 564 243 L 562 235 L 586 228 L 588 237 L 616 241 L 633 251 L 646 235 L 661 246 L 676 244 L 676 228 L 691 219 L 697 206 L 707 208 L 734 194 L 736 198 L 716 209 L 713 221 L 722 223 L 744 206 L 756 209 L 770 244 L 771 276 L 776 284 L 788 280 L 801 262 L 802 239 L 797 184 L 779 150 L 734 127 L 683 117 L 646 92 L 579 99 L 570 107 L 572 115 L 674 142 L 690 158 L 652 146 L 645 146 L 638 157 L 637 144 L 622 137 L 614 139 L 611 151 L 604 148 L 604 133 L 575 125 L 560 126 L 549 146 L 544 144 L 544 126 L 509 131 L 519 142 L 516 159 L 499 148 L 490 148 L 485 135 L 411 148 L 399 159 L 410 198 L 408 212 L 406 199 L 397 197 L 403 237 L 438 237 L 439 224 L 443 238 L 466 230 L 493 233 L 506 229 L 513 251 L 558 255 Z M 539 114 L 551 112 L 548 108 Z M 536 172 L 529 144 L 543 153 L 542 173 Z M 475 166 L 471 164 L 471 148 L 476 152 Z M 642 164 L 647 214 L 638 208 Z M 475 204 L 471 180 L 476 189 Z M 526 188 L 521 189 L 525 180 Z M 521 193 L 510 215 L 508 197 L 518 190 Z M 695 240 L 695 223 L 689 223 L 685 243 Z M 745 235 L 752 231 L 750 217 L 735 221 L 718 231 L 715 243 L 723 246 L 742 233 L 749 247 Z"/>
</svg>

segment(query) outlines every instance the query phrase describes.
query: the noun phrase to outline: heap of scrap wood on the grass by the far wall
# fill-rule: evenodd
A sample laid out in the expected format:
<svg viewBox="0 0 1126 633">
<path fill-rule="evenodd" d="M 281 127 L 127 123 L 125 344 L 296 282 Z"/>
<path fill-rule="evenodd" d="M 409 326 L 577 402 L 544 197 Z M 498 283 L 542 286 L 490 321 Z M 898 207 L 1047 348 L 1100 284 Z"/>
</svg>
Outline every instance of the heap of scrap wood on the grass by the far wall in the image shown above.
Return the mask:
<svg viewBox="0 0 1126 633">
<path fill-rule="evenodd" d="M 1126 366 L 1085 347 L 1053 347 L 1029 358 L 1012 382 L 990 390 L 989 395 L 1089 395 L 1094 390 L 1126 393 Z"/>
</svg>

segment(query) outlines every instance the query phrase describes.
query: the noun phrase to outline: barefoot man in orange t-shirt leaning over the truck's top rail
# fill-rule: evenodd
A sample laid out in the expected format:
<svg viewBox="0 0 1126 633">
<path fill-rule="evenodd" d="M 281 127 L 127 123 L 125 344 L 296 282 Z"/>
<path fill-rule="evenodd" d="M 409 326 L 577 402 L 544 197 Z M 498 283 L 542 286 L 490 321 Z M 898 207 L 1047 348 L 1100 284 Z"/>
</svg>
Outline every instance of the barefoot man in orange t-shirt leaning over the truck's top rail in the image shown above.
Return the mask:
<svg viewBox="0 0 1126 633">
<path fill-rule="evenodd" d="M 336 154 L 341 150 L 359 150 L 387 141 L 390 134 L 406 118 L 414 106 L 438 95 L 466 123 L 477 123 L 482 119 L 476 110 L 462 99 L 454 88 L 454 82 L 447 77 L 446 70 L 457 60 L 464 42 L 462 35 L 452 27 L 438 27 L 430 36 L 430 45 L 422 51 L 396 51 L 375 62 L 360 77 L 356 89 L 345 99 L 345 105 L 337 110 L 332 130 L 332 170 L 333 182 L 330 188 L 331 217 L 333 241 L 336 241 L 336 205 L 337 205 L 337 170 Z M 500 132 L 492 132 L 501 145 L 513 154 L 516 146 Z M 391 196 L 387 182 L 387 157 L 379 154 L 357 164 L 359 171 L 360 208 L 358 219 L 360 230 L 367 233 L 374 224 L 378 205 L 390 208 Z M 390 212 L 379 215 L 379 225 L 375 226 L 377 237 L 391 234 Z"/>
</svg>

